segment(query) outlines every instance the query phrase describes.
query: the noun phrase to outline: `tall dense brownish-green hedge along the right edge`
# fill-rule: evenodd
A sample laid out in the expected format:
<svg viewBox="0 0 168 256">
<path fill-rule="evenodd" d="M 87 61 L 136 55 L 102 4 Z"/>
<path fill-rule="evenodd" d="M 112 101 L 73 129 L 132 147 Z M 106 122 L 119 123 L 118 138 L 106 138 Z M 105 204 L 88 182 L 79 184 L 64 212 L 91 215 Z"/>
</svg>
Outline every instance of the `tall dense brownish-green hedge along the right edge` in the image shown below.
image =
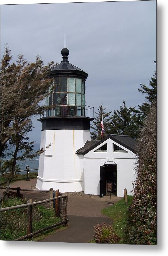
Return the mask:
<svg viewBox="0 0 168 256">
<path fill-rule="evenodd" d="M 141 130 L 138 148 L 137 180 L 128 211 L 124 242 L 156 244 L 156 102 Z"/>
</svg>

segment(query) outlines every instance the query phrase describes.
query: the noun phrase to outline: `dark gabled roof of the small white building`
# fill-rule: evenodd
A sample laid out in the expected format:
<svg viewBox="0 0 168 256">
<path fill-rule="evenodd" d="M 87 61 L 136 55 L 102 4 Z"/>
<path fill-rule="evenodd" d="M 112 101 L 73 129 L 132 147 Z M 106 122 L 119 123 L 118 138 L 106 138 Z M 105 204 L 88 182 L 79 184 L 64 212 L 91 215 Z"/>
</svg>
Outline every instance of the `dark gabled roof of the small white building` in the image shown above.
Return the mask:
<svg viewBox="0 0 168 256">
<path fill-rule="evenodd" d="M 131 137 L 129 137 L 128 135 L 117 135 L 117 134 L 108 134 L 104 139 L 100 141 L 86 141 L 84 147 L 78 149 L 76 154 L 85 155 L 86 153 L 88 153 L 95 147 L 99 146 L 101 143 L 103 143 L 109 138 L 136 154 L 136 141 Z"/>
</svg>

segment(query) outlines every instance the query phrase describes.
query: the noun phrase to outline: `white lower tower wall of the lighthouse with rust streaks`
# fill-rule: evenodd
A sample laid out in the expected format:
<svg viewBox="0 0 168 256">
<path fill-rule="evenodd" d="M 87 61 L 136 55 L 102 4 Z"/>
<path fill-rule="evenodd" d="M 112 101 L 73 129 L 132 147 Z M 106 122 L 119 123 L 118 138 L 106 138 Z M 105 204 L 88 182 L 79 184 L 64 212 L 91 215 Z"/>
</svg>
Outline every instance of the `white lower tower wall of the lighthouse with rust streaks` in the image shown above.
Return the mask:
<svg viewBox="0 0 168 256">
<path fill-rule="evenodd" d="M 84 159 L 77 149 L 90 140 L 87 130 L 47 130 L 41 133 L 41 147 L 51 146 L 40 155 L 38 189 L 59 189 L 60 192 L 84 190 Z"/>
</svg>

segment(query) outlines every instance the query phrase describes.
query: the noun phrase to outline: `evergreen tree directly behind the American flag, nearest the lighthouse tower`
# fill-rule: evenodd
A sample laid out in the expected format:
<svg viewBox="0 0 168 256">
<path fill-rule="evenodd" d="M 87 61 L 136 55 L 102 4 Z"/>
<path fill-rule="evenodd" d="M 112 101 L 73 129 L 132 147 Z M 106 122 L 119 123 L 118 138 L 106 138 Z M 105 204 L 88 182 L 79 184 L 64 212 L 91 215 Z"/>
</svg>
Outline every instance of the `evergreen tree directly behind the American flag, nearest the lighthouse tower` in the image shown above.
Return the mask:
<svg viewBox="0 0 168 256">
<path fill-rule="evenodd" d="M 94 130 L 93 132 L 90 132 L 91 134 L 91 139 L 92 140 L 101 140 L 101 126 L 100 123 L 102 121 L 102 116 L 103 116 L 103 124 L 104 124 L 104 136 L 105 137 L 107 134 L 109 134 L 110 130 L 110 114 L 111 112 L 105 112 L 106 108 L 103 107 L 103 103 L 101 103 L 100 107 L 98 108 L 98 112 L 95 114 L 97 115 L 95 117 L 95 120 L 92 121 L 91 128 Z"/>
</svg>

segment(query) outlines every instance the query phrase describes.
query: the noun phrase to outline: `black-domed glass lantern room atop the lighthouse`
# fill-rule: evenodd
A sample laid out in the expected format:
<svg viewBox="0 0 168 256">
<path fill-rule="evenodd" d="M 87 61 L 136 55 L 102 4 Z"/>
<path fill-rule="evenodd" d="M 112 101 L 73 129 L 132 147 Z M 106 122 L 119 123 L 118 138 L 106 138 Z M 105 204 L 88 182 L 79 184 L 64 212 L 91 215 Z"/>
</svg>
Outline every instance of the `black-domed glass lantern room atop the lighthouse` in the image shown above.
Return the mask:
<svg viewBox="0 0 168 256">
<path fill-rule="evenodd" d="M 62 62 L 50 73 L 53 90 L 46 98 L 46 117 L 85 116 L 85 79 L 88 74 L 70 64 L 69 50 L 61 51 Z"/>
</svg>

